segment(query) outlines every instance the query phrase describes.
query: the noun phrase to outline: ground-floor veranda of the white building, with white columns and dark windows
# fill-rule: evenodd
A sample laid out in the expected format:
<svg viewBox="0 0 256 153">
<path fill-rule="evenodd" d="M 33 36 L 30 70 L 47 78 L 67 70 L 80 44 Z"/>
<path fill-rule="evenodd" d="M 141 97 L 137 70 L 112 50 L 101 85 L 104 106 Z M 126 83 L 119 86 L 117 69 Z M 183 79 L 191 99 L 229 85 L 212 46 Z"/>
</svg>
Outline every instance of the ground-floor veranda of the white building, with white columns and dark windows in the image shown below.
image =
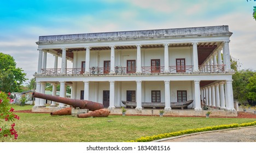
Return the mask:
<svg viewBox="0 0 256 153">
<path fill-rule="evenodd" d="M 190 110 L 202 111 L 202 102 L 209 108 L 234 111 L 232 80 L 212 81 L 200 86 L 200 80 L 188 81 L 60 81 L 53 84 L 53 95 L 56 85 L 60 84 L 60 97 L 65 97 L 66 85 L 72 86 L 72 98 L 85 99 L 102 103 L 112 112 L 125 107 L 121 101 L 135 101 L 135 110 L 143 110 L 142 102 L 160 102 L 165 104 L 165 111 L 171 112 L 171 102 L 194 100 L 188 106 Z M 45 93 L 46 82 L 37 82 L 36 92 Z M 51 102 L 56 106 L 56 102 Z M 36 98 L 34 108 L 45 107 L 45 100 Z M 59 103 L 58 108 L 65 104 Z M 134 109 L 134 108 L 133 108 Z M 146 110 L 146 109 L 144 109 Z M 133 110 L 131 110 L 133 111 Z M 133 113 L 134 114 L 134 113 Z"/>
</svg>

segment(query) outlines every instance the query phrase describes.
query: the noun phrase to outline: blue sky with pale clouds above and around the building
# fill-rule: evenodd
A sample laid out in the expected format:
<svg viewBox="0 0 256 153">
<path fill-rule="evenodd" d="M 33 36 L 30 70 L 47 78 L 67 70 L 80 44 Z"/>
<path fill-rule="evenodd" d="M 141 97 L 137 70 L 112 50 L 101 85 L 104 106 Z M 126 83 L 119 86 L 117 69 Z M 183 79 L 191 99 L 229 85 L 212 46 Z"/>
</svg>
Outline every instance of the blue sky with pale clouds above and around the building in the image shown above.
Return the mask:
<svg viewBox="0 0 256 153">
<path fill-rule="evenodd" d="M 13 56 L 31 79 L 39 36 L 228 25 L 231 56 L 240 61 L 240 69 L 256 70 L 254 5 L 246 0 L 1 1 L 0 52 Z M 53 67 L 51 58 L 48 68 Z"/>
</svg>

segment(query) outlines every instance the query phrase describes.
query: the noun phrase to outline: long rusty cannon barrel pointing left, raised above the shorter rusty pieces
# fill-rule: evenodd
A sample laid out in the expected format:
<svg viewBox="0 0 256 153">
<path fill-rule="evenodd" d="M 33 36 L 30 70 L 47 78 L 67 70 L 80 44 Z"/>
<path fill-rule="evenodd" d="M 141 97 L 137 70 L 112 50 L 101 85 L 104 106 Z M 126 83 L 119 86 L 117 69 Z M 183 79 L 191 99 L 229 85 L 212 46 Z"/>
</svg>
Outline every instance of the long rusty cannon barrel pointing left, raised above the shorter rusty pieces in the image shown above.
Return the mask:
<svg viewBox="0 0 256 153">
<path fill-rule="evenodd" d="M 41 98 L 41 99 L 46 99 L 49 101 L 72 105 L 72 107 L 74 107 L 74 108 L 79 107 L 80 109 L 89 109 L 91 111 L 104 108 L 103 104 L 97 103 L 97 102 L 92 102 L 92 101 L 51 96 L 51 95 L 45 95 L 43 93 L 38 93 L 38 92 L 33 92 L 32 96 L 35 98 Z"/>
</svg>

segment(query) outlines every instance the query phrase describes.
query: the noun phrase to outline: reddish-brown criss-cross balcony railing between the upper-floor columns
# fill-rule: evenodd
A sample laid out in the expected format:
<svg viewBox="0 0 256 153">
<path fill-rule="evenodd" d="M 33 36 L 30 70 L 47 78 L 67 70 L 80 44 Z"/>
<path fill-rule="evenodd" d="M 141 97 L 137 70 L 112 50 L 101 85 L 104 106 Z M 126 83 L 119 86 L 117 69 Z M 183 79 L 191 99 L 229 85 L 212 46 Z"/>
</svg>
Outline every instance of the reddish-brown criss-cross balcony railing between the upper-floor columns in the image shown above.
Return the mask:
<svg viewBox="0 0 256 153">
<path fill-rule="evenodd" d="M 202 73 L 220 73 L 225 72 L 225 65 L 208 65 L 200 66 Z M 165 73 L 164 66 L 141 67 L 142 74 Z M 135 74 L 137 67 L 115 67 L 115 74 Z M 109 67 L 91 67 L 89 75 L 106 75 L 109 74 Z M 193 73 L 193 66 L 169 66 L 170 73 Z M 84 68 L 67 68 L 65 73 L 61 73 L 61 68 L 42 69 L 42 75 L 84 75 Z"/>
</svg>

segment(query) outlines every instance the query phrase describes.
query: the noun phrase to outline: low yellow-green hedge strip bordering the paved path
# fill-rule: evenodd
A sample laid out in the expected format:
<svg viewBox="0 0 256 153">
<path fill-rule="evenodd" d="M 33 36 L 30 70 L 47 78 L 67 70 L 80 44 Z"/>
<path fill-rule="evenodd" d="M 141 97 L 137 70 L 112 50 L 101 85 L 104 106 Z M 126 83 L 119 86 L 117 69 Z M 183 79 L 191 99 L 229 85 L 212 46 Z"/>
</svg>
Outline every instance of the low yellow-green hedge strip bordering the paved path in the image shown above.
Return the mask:
<svg viewBox="0 0 256 153">
<path fill-rule="evenodd" d="M 189 129 L 189 130 L 158 134 L 155 136 L 141 137 L 136 140 L 130 140 L 128 142 L 151 142 L 153 140 L 169 138 L 169 137 L 176 137 L 176 136 L 181 136 L 181 135 L 190 134 L 190 133 L 213 131 L 213 130 L 223 130 L 223 129 L 227 129 L 227 128 L 245 127 L 245 126 L 254 126 L 254 125 L 256 125 L 256 121 L 249 122 L 249 123 L 241 123 L 241 124 L 233 123 L 230 125 L 219 125 L 219 126 L 212 126 L 212 127 L 194 128 L 194 129 Z"/>
</svg>

